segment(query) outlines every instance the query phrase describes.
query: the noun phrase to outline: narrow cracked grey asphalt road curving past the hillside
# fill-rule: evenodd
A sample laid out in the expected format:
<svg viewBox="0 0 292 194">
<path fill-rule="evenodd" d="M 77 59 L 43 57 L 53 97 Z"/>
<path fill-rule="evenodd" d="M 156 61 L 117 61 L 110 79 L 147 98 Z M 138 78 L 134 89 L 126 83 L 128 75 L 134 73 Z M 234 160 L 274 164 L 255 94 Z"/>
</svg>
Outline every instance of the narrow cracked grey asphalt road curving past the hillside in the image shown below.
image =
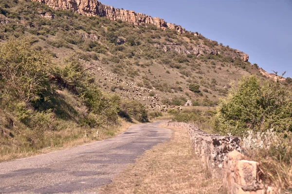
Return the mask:
<svg viewBox="0 0 292 194">
<path fill-rule="evenodd" d="M 162 122 L 131 126 L 104 141 L 0 163 L 0 193 L 98 193 L 145 150 L 168 140 Z"/>
</svg>

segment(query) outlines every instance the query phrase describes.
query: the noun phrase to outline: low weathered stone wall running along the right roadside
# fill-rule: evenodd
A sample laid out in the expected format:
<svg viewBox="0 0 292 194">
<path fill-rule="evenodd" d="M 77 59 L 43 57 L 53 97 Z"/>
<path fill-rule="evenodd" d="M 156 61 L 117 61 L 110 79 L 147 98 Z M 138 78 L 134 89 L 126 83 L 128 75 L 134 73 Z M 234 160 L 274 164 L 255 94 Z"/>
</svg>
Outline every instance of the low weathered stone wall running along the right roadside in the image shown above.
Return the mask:
<svg viewBox="0 0 292 194">
<path fill-rule="evenodd" d="M 223 187 L 228 194 L 265 193 L 259 179 L 259 163 L 245 160 L 246 157 L 240 153 L 240 138 L 208 134 L 187 123 L 168 122 L 167 126 L 188 130 L 193 152 L 201 166 L 210 175 L 223 178 Z"/>
</svg>

